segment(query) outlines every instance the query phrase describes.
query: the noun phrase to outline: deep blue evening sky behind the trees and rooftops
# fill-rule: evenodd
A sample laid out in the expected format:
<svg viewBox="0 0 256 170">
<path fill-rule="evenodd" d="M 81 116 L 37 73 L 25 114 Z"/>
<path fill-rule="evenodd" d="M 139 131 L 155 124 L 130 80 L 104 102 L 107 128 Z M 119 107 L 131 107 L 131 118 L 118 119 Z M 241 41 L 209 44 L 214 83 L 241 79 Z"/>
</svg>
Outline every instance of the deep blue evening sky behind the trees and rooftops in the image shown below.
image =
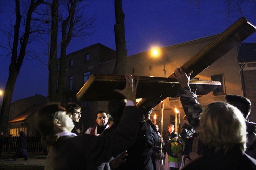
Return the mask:
<svg viewBox="0 0 256 170">
<path fill-rule="evenodd" d="M 8 25 L 9 16 L 15 17 L 9 12 L 12 8 L 8 5 L 3 8 L 4 13 L 0 14 L 1 25 L 3 23 Z M 191 0 L 123 0 L 122 5 L 126 16 L 125 38 L 128 56 L 147 51 L 153 45 L 165 47 L 219 34 L 242 16 L 256 25 L 255 0 L 244 0 L 243 14 L 231 15 L 229 18 L 223 0 L 201 0 L 200 4 L 195 4 Z M 96 14 L 95 28 L 92 30 L 95 33 L 83 39 L 73 39 L 67 54 L 96 43 L 115 50 L 114 0 L 94 0 L 87 8 L 87 12 L 88 15 Z M 6 43 L 7 39 L 1 33 L 0 37 L 0 43 Z M 256 42 L 256 33 L 244 42 Z M 43 55 L 43 51 L 47 49 L 41 48 L 40 44 L 31 48 L 38 49 L 39 53 L 41 51 L 42 60 L 47 61 L 47 56 Z M 3 90 L 8 79 L 10 64 L 10 57 L 6 57 L 6 53 L 5 49 L 0 48 L 0 89 Z M 24 60 L 12 101 L 35 94 L 47 96 L 47 84 L 47 66 L 38 60 Z"/>
</svg>

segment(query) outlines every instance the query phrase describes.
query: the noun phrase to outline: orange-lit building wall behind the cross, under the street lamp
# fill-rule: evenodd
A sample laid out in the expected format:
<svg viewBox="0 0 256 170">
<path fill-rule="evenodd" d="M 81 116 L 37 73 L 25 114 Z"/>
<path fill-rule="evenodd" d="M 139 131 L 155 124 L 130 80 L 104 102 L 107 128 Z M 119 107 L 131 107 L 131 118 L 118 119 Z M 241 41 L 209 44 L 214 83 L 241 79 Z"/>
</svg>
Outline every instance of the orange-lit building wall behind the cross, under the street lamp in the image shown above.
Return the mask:
<svg viewBox="0 0 256 170">
<path fill-rule="evenodd" d="M 162 48 L 163 57 L 161 60 L 152 58 L 149 52 L 141 53 L 138 55 L 130 56 L 127 58 L 126 72 L 132 73 L 134 69 L 134 75 L 142 76 L 156 76 L 163 77 L 162 63 L 165 65 L 166 77 L 170 76 L 174 69 L 182 66 L 186 61 L 193 57 L 199 50 L 208 45 L 213 41 L 215 36 L 202 38 L 195 41 L 181 43 L 169 47 Z M 151 66 L 151 70 L 149 67 Z M 212 75 L 223 74 L 225 89 L 221 95 L 213 95 L 212 92 L 198 98 L 198 101 L 204 107 L 212 101 L 224 101 L 225 94 L 237 94 L 242 95 L 242 87 L 240 81 L 239 65 L 237 62 L 237 48 L 233 48 L 223 57 L 218 59 L 215 63 L 210 65 L 203 72 L 198 74 L 196 78 L 201 80 L 211 80 Z M 177 108 L 183 118 L 184 111 L 179 99 L 165 99 L 164 101 L 164 117 L 163 117 L 163 130 L 167 129 L 167 126 L 171 124 L 171 117 L 175 115 L 174 109 Z M 161 114 L 161 104 L 154 107 L 153 115 L 156 114 L 158 117 Z M 160 120 L 157 121 L 160 123 Z M 181 119 L 183 124 L 183 119 Z M 160 125 L 160 124 L 159 124 Z"/>
</svg>

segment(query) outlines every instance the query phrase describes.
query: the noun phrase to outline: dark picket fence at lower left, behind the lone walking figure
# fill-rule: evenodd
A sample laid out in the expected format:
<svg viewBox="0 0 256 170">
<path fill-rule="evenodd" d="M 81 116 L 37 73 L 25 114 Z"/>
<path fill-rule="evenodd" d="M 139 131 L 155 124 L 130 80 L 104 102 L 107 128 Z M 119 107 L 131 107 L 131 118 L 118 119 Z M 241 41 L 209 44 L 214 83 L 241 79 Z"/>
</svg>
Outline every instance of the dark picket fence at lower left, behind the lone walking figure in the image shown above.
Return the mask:
<svg viewBox="0 0 256 170">
<path fill-rule="evenodd" d="M 16 152 L 17 151 L 18 137 L 4 137 L 3 138 L 3 152 Z M 28 153 L 41 153 L 45 152 L 41 144 L 41 138 L 29 136 L 27 137 L 27 151 Z"/>
</svg>

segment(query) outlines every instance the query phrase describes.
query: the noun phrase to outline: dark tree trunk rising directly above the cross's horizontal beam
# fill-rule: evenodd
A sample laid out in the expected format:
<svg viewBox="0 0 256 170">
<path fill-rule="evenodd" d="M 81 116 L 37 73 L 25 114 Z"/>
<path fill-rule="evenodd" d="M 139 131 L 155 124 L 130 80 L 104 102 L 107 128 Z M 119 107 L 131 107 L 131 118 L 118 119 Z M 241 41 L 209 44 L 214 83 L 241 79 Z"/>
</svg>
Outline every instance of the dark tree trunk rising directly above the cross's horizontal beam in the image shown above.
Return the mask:
<svg viewBox="0 0 256 170">
<path fill-rule="evenodd" d="M 127 53 L 125 49 L 125 14 L 122 9 L 122 0 L 115 0 L 115 17 L 116 62 L 113 74 L 125 74 Z"/>
</svg>

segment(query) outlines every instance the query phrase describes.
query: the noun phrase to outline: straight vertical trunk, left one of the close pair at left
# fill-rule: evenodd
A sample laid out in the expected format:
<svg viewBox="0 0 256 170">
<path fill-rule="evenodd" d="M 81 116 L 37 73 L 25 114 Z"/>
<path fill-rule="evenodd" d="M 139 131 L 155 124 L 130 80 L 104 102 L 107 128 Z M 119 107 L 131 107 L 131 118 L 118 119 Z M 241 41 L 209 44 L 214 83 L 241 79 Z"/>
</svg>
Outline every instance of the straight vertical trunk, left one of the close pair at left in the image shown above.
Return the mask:
<svg viewBox="0 0 256 170">
<path fill-rule="evenodd" d="M 53 0 L 51 5 L 51 45 L 50 45 L 50 57 L 49 57 L 49 92 L 50 101 L 57 102 L 57 49 L 58 49 L 58 7 L 59 0 Z"/>
</svg>

